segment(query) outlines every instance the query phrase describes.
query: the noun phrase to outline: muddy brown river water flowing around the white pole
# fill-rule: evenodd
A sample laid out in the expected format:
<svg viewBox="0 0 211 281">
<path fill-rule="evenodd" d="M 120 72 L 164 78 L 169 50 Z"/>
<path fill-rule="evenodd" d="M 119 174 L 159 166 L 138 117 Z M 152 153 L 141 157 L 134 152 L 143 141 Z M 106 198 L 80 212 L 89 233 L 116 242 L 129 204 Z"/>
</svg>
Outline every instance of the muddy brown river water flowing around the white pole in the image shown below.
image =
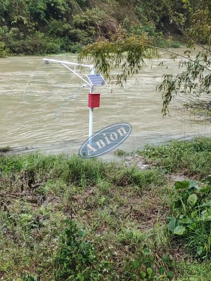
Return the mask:
<svg viewBox="0 0 211 281">
<path fill-rule="evenodd" d="M 182 53 L 184 48 L 175 51 Z M 89 89 L 82 88 L 83 82 L 61 64 L 46 65 L 42 58 L 0 59 L 0 147 L 10 146 L 19 153 L 39 149 L 69 154 L 88 137 Z M 77 62 L 76 55 L 50 58 Z M 163 67 L 157 67 L 160 61 Z M 152 69 L 149 63 L 140 74 L 129 77 L 124 89 L 95 87 L 94 92 L 101 93 L 101 106 L 94 110 L 93 132 L 115 122 L 129 122 L 132 133 L 119 147 L 124 150 L 169 139 L 211 135 L 210 126 L 185 124 L 175 111 L 171 117 L 162 118 L 162 99 L 156 86 L 164 73 L 178 73 L 178 61 L 162 52 L 159 62 L 154 62 Z M 152 80 L 154 76 L 157 80 Z M 111 152 L 104 157 L 115 156 Z"/>
</svg>

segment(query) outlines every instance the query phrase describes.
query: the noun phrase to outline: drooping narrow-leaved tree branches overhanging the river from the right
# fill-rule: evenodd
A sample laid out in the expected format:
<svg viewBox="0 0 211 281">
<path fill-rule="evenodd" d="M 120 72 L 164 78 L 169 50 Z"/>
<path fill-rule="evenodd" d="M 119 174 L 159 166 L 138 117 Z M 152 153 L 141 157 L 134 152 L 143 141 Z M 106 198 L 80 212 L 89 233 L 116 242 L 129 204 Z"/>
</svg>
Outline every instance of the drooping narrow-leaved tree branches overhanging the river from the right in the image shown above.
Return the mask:
<svg viewBox="0 0 211 281">
<path fill-rule="evenodd" d="M 184 54 L 166 50 L 171 59 L 178 59 L 180 73 L 175 77 L 164 74 L 158 89 L 163 97 L 163 115 L 169 113 L 174 98 L 180 102 L 185 121 L 211 122 L 211 2 L 210 0 L 183 0 L 185 14 L 175 12 L 172 21 L 189 42 Z M 91 56 L 98 70 L 107 79 L 113 68 L 120 72 L 113 83 L 123 86 L 128 75 L 137 74 L 146 63 L 160 58 L 155 37 L 118 34 L 110 41 L 88 45 L 79 55 L 79 61 Z M 162 63 L 160 63 L 162 65 Z"/>
</svg>

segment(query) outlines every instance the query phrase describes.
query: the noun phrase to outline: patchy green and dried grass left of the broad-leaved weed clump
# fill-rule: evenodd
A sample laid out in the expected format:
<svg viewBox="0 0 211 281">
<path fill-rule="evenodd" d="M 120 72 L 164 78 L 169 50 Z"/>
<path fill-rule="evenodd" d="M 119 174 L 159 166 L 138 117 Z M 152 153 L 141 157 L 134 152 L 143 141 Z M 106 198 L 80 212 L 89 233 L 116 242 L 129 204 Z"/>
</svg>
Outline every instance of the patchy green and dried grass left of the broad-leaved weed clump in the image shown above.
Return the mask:
<svg viewBox="0 0 211 281">
<path fill-rule="evenodd" d="M 132 258 L 146 243 L 154 248 L 153 233 L 165 221 L 169 204 L 167 180 L 158 169 L 139 171 L 121 163 L 40 153 L 2 156 L 0 167 L 0 275 L 4 280 L 14 276 L 22 280 L 28 273 L 26 280 L 34 280 L 29 279 L 32 276 L 44 281 L 82 280 L 84 264 L 77 257 L 81 243 L 89 253 L 86 268 L 92 264 L 85 280 L 117 276 L 128 280 L 125 251 Z M 58 260 L 62 233 L 67 231 L 65 220 L 71 213 L 84 236 L 79 238 L 78 250 L 73 247 L 75 266 L 70 268 L 67 261 Z M 91 241 L 95 253 L 90 253 L 86 241 Z M 158 235 L 156 243 L 161 243 Z"/>
</svg>

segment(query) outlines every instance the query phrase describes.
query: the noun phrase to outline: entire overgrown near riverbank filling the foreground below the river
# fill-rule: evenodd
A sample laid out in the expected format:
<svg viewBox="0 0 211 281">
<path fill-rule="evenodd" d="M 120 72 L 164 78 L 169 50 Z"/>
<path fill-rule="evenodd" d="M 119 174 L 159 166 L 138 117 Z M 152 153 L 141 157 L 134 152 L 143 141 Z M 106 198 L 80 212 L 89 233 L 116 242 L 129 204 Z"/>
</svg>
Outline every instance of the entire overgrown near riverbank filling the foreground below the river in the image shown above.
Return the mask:
<svg viewBox="0 0 211 281">
<path fill-rule="evenodd" d="M 136 151 L 149 165 L 141 170 L 76 155 L 0 156 L 1 278 L 209 280 L 211 198 L 201 180 L 210 148 L 210 138 L 147 146 Z"/>
</svg>

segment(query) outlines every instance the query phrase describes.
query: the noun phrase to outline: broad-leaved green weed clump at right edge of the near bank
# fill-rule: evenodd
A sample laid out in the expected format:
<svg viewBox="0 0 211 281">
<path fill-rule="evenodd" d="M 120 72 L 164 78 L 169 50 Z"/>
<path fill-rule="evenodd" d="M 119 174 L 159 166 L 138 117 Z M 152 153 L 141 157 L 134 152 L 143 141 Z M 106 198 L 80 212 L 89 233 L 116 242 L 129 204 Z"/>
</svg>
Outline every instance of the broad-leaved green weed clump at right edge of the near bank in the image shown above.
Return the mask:
<svg viewBox="0 0 211 281">
<path fill-rule="evenodd" d="M 176 181 L 168 229 L 194 258 L 211 257 L 211 176 L 199 186 L 194 181 Z"/>
</svg>

